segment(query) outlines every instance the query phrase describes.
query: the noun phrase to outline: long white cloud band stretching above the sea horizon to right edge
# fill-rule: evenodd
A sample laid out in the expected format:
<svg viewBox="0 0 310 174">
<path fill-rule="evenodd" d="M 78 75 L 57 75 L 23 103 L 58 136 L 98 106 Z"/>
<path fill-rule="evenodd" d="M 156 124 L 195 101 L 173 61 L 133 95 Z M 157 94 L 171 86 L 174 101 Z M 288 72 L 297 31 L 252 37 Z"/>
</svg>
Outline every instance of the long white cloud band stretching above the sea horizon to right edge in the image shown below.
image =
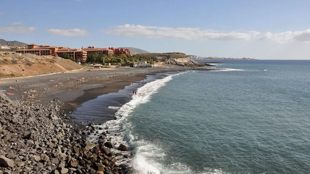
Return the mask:
<svg viewBox="0 0 310 174">
<path fill-rule="evenodd" d="M 310 29 L 295 32 L 261 33 L 258 31 L 231 31 L 221 32 L 212 29 L 200 28 L 172 28 L 125 24 L 101 30 L 103 33 L 125 35 L 131 37 L 146 37 L 156 39 L 185 39 L 185 40 L 271 40 L 278 43 L 290 41 L 310 41 Z"/>
</svg>

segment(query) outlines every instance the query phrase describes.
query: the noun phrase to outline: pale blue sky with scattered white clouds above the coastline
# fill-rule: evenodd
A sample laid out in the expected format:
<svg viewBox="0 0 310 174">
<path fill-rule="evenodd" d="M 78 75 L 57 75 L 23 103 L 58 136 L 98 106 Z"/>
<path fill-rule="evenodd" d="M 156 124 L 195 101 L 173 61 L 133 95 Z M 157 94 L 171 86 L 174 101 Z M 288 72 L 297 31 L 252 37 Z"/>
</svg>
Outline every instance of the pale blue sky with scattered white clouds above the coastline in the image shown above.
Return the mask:
<svg viewBox="0 0 310 174">
<path fill-rule="evenodd" d="M 310 0 L 1 1 L 0 38 L 201 57 L 310 59 L 309 9 Z"/>
</svg>

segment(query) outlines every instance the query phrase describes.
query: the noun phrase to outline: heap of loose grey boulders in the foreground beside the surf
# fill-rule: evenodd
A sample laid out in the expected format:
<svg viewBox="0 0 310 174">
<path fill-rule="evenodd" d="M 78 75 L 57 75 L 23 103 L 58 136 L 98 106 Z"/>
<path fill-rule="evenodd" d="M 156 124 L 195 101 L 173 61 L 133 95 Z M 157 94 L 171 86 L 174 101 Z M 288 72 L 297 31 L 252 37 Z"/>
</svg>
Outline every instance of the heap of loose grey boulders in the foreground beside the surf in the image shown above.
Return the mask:
<svg viewBox="0 0 310 174">
<path fill-rule="evenodd" d="M 117 156 L 110 148 L 108 132 L 98 143 L 87 142 L 87 136 L 97 132 L 90 124 L 85 128 L 70 123 L 60 106 L 52 103 L 25 105 L 12 102 L 0 92 L 0 173 L 4 174 L 64 174 L 102 173 L 128 174 L 132 167 L 117 165 Z M 120 145 L 119 150 L 128 147 Z"/>
</svg>

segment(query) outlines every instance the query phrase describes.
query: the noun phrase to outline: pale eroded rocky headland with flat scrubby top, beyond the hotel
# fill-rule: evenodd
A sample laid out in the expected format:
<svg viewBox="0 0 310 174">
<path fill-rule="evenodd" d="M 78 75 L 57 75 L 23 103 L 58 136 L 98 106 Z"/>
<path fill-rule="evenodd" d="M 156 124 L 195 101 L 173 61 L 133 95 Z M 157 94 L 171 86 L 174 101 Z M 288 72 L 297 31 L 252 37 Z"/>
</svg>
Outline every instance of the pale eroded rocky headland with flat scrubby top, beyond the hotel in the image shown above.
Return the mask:
<svg viewBox="0 0 310 174">
<path fill-rule="evenodd" d="M 194 60 L 189 59 L 188 55 L 179 52 L 173 53 L 143 53 L 136 54 L 138 58 L 148 58 L 154 61 L 165 62 L 169 65 L 179 65 L 184 67 L 204 67 L 213 66 L 208 63 L 199 63 Z"/>
</svg>

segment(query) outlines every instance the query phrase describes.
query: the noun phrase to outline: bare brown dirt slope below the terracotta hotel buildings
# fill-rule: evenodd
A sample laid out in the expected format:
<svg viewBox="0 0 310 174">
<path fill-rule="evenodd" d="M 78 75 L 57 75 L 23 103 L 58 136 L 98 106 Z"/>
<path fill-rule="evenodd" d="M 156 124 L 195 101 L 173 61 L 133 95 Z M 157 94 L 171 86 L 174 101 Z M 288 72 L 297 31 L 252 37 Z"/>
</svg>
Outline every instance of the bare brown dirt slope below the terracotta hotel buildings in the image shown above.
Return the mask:
<svg viewBox="0 0 310 174">
<path fill-rule="evenodd" d="M 69 59 L 34 54 L 0 54 L 0 78 L 33 76 L 82 68 Z"/>
</svg>

